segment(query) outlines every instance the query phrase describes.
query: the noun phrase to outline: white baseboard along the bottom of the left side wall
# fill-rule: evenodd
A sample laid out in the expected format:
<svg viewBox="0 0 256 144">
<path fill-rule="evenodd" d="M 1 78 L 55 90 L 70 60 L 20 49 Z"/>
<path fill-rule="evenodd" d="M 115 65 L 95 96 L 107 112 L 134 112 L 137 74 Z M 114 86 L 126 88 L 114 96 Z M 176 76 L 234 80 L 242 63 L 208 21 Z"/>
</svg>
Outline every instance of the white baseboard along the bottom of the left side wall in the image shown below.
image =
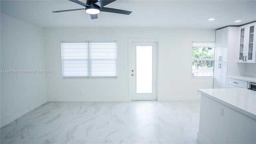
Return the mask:
<svg viewBox="0 0 256 144">
<path fill-rule="evenodd" d="M 9 116 L 8 118 L 5 118 L 3 120 L 0 121 L 1 123 L 1 128 L 7 124 L 9 124 L 10 122 L 16 120 L 17 118 L 23 116 L 24 114 L 30 112 L 31 110 L 34 110 L 35 108 L 37 108 L 38 106 L 41 106 L 42 104 L 44 104 L 45 102 L 47 102 L 47 100 L 41 100 L 40 102 L 36 102 L 26 108 L 24 108 L 23 110 L 20 110 L 19 112 L 16 112 L 15 114 Z"/>
</svg>

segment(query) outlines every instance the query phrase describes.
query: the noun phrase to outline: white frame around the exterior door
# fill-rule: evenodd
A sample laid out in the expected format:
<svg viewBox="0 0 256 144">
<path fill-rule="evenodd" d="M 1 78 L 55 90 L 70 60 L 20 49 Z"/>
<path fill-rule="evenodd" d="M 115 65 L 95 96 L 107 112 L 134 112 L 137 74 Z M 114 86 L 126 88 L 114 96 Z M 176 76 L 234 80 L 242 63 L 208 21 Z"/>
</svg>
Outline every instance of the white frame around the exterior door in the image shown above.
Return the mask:
<svg viewBox="0 0 256 144">
<path fill-rule="evenodd" d="M 158 81 L 159 81 L 159 39 L 158 38 L 128 38 L 128 98 L 132 101 L 132 42 L 157 42 L 157 83 L 156 83 L 156 100 L 159 100 L 158 96 Z"/>
</svg>

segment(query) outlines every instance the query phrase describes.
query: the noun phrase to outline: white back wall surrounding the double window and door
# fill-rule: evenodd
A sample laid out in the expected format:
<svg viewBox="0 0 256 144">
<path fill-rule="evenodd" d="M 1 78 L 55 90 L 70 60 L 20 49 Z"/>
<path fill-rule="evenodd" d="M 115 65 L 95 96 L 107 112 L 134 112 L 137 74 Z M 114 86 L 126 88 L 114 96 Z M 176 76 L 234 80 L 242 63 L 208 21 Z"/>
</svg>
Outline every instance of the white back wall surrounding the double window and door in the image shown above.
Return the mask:
<svg viewBox="0 0 256 144">
<path fill-rule="evenodd" d="M 197 100 L 198 88 L 212 88 L 213 79 L 191 78 L 192 41 L 215 41 L 215 30 L 176 28 L 46 28 L 48 101 L 130 101 L 128 38 L 158 38 L 158 100 Z M 60 41 L 117 40 L 118 78 L 62 78 Z M 82 96 L 80 96 L 82 92 Z"/>
</svg>

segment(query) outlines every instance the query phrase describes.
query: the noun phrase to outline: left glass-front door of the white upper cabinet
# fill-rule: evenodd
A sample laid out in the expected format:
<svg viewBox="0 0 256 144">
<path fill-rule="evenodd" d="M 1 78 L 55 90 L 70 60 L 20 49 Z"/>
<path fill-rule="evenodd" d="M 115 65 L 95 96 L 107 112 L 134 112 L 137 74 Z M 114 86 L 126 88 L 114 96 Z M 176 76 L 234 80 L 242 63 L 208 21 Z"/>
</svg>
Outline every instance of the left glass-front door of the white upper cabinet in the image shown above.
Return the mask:
<svg viewBox="0 0 256 144">
<path fill-rule="evenodd" d="M 245 46 L 244 46 L 244 33 L 245 33 L 245 26 L 240 26 L 238 28 L 238 61 L 237 62 L 245 62 L 244 57 L 245 57 Z"/>
</svg>

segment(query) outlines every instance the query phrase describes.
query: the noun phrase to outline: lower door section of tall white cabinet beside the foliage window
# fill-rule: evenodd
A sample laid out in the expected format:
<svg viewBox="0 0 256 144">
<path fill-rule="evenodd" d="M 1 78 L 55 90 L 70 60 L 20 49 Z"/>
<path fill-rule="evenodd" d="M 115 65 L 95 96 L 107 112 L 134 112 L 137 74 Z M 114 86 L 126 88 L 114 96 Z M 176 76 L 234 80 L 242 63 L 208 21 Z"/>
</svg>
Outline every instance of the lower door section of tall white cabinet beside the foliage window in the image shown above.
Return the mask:
<svg viewBox="0 0 256 144">
<path fill-rule="evenodd" d="M 227 66 L 226 62 L 215 62 L 213 88 L 226 88 Z"/>
</svg>

